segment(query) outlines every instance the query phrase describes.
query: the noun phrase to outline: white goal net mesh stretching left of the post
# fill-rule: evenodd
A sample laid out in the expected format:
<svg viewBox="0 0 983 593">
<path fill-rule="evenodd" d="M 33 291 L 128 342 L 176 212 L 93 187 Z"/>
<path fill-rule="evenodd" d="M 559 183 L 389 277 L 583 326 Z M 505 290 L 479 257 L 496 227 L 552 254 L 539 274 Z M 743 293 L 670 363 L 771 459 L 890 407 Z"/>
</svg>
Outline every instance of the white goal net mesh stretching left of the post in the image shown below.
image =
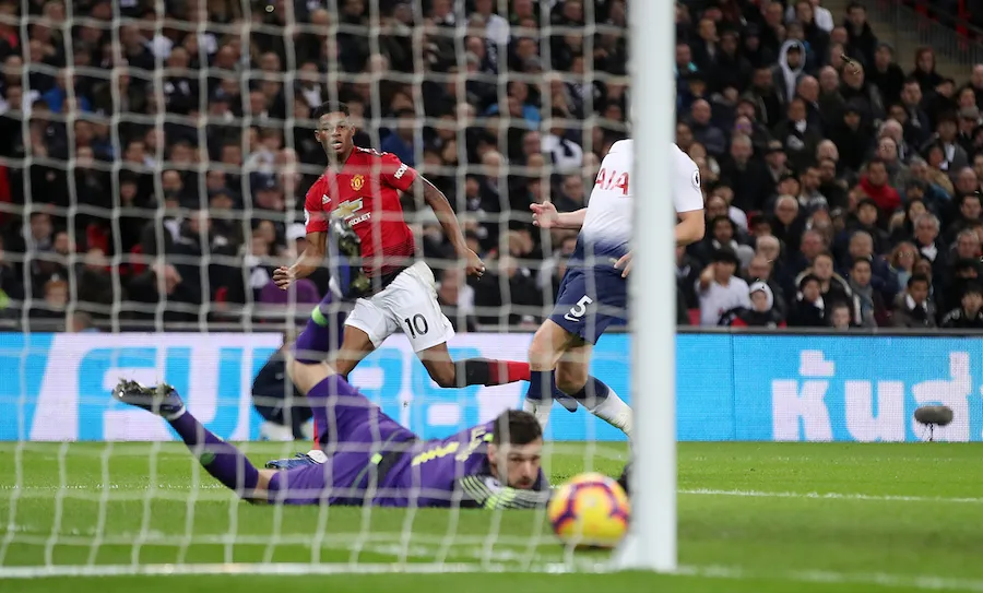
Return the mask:
<svg viewBox="0 0 983 593">
<path fill-rule="evenodd" d="M 576 244 L 529 206 L 582 207 L 626 135 L 626 26 L 624 0 L 0 0 L 0 576 L 603 560 L 564 549 L 543 511 L 242 503 L 109 391 L 175 386 L 259 466 L 309 448 L 283 373 L 279 393 L 253 382 L 352 272 L 334 253 L 288 292 L 272 284 L 306 245 L 327 100 L 350 106 L 357 145 L 448 197 L 488 268 L 465 277 L 423 195 L 403 195 L 451 356 L 525 360 Z M 350 308 L 322 311 L 337 329 Z M 630 402 L 618 330 L 591 371 Z M 399 334 L 350 378 L 422 438 L 521 407 L 528 386 L 441 389 Z M 554 483 L 616 477 L 628 459 L 583 408 L 555 406 L 546 439 Z"/>
</svg>

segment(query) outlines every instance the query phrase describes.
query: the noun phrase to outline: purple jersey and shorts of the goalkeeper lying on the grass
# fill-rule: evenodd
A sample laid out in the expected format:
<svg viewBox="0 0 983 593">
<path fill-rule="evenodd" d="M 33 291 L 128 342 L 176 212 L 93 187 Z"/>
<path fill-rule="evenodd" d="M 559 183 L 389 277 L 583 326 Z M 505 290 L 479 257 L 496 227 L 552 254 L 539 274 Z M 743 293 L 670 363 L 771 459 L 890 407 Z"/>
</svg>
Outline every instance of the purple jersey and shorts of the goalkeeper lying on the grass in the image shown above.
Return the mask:
<svg viewBox="0 0 983 593">
<path fill-rule="evenodd" d="M 318 389 L 339 394 L 329 404 L 330 417 L 319 393 L 308 393 L 308 400 L 327 460 L 274 474 L 272 502 L 365 505 L 369 499 L 380 507 L 533 508 L 548 500 L 542 471 L 531 490 L 494 477 L 488 465 L 494 420 L 421 441 L 344 380 L 333 377 L 324 386 Z"/>
</svg>

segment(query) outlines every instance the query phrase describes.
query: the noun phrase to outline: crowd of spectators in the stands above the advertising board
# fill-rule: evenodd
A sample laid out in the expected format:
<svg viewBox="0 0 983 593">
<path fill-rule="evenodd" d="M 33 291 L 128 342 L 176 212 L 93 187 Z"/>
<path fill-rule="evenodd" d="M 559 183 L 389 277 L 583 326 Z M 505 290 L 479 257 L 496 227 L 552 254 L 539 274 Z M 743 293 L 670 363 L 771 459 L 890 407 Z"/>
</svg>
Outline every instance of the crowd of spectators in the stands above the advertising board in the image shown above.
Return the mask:
<svg viewBox="0 0 983 593">
<path fill-rule="evenodd" d="M 434 181 L 489 263 L 464 278 L 406 197 L 458 330 L 535 324 L 576 234 L 532 226 L 529 204 L 582 207 L 626 135 L 625 0 L 25 4 L 0 0 L 7 317 L 283 304 L 272 270 L 304 248 L 325 162 L 308 117 L 337 98 L 356 143 Z M 860 3 L 689 0 L 676 25 L 676 140 L 708 224 L 677 250 L 680 323 L 983 328 L 983 64 L 898 64 Z"/>
</svg>

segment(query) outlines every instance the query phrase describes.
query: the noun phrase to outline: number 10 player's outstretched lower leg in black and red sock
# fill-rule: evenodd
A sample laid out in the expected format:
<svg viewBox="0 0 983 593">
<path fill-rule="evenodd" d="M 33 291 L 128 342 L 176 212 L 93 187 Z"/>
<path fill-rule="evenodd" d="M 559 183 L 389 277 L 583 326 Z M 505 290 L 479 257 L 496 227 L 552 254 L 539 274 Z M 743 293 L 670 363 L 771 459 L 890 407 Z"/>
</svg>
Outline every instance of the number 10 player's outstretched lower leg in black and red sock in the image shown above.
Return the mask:
<svg viewBox="0 0 983 593">
<path fill-rule="evenodd" d="M 488 358 L 466 358 L 455 361 L 451 359 L 446 342 L 421 351 L 417 355 L 430 379 L 442 388 L 501 386 L 529 380 L 526 363 Z"/>
</svg>

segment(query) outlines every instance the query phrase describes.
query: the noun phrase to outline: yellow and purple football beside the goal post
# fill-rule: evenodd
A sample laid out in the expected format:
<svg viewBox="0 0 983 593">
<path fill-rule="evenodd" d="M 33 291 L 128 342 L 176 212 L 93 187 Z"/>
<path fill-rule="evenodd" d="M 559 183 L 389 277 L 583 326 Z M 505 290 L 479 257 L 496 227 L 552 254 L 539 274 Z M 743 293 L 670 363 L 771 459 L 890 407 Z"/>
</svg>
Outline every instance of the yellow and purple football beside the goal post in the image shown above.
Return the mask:
<svg viewBox="0 0 983 593">
<path fill-rule="evenodd" d="M 580 474 L 559 488 L 546 513 L 568 546 L 611 548 L 628 531 L 631 512 L 621 486 L 602 474 Z"/>
</svg>

